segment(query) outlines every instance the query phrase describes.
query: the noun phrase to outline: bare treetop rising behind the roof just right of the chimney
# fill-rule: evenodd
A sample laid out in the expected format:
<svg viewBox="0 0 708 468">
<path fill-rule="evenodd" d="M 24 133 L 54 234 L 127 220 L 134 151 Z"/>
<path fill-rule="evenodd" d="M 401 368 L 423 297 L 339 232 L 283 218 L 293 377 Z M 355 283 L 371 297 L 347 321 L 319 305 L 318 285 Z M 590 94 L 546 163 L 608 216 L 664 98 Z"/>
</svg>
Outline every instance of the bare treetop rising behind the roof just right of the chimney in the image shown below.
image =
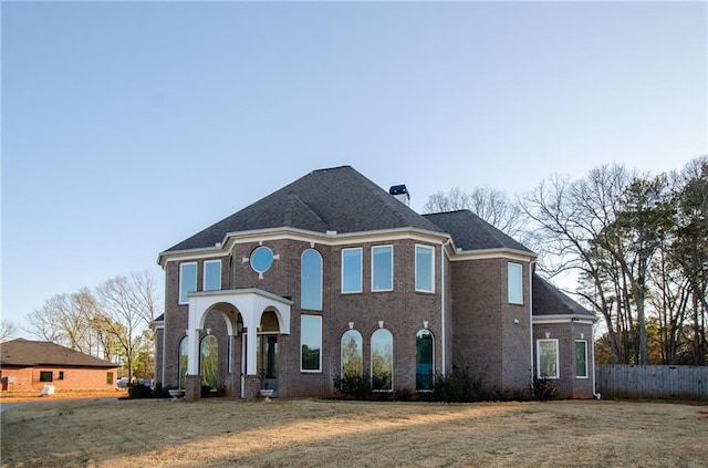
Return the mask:
<svg viewBox="0 0 708 468">
<path fill-rule="evenodd" d="M 451 188 L 447 194 L 437 191 L 428 197 L 424 212 L 442 212 L 468 209 L 485 221 L 513 238 L 523 238 L 523 211 L 506 193 L 489 187 L 476 187 L 467 194 Z"/>
</svg>

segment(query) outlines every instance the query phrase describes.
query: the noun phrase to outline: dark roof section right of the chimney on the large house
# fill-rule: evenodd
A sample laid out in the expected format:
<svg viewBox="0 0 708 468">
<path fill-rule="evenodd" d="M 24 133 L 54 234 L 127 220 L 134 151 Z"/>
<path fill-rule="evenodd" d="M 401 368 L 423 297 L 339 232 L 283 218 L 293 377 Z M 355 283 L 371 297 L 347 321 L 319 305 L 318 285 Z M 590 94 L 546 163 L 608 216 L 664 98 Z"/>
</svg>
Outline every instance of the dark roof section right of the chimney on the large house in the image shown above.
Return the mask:
<svg viewBox="0 0 708 468">
<path fill-rule="evenodd" d="M 436 212 L 423 217 L 452 236 L 455 247 L 462 250 L 512 249 L 535 254 L 470 210 Z"/>
</svg>

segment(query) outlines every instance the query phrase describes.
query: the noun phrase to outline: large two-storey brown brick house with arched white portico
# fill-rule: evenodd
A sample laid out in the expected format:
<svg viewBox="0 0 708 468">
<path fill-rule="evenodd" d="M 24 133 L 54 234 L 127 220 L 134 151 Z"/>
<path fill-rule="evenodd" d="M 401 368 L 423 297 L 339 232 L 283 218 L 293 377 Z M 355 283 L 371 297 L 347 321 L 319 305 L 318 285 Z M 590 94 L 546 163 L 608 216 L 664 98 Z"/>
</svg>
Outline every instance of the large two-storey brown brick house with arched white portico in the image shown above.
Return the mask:
<svg viewBox="0 0 708 468">
<path fill-rule="evenodd" d="M 236 187 L 238 189 L 238 187 Z M 156 377 L 253 397 L 429 391 L 467 368 L 498 389 L 556 379 L 594 395 L 595 315 L 534 273 L 535 254 L 468 210 L 420 216 L 405 186 L 312 171 L 163 251 Z"/>
</svg>

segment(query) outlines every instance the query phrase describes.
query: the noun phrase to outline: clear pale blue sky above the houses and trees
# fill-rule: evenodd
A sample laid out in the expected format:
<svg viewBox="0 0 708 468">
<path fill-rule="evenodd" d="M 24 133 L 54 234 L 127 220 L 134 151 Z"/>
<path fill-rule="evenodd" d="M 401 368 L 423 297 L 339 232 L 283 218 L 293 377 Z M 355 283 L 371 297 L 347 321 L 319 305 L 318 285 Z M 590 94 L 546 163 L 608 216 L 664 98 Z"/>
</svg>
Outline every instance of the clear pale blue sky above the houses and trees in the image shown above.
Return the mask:
<svg viewBox="0 0 708 468">
<path fill-rule="evenodd" d="M 707 153 L 706 2 L 2 2 L 1 15 L 2 316 L 19 325 L 56 293 L 159 275 L 159 251 L 313 169 L 406 184 L 420 210 L 456 186 L 512 195 Z"/>
</svg>

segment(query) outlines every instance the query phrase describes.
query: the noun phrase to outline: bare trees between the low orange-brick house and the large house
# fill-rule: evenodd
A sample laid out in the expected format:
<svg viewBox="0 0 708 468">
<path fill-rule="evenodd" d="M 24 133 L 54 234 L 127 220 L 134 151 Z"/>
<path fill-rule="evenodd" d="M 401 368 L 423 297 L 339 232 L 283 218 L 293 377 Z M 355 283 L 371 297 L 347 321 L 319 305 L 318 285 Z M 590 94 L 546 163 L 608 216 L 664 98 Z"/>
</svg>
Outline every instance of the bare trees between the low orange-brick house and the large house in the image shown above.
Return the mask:
<svg viewBox="0 0 708 468">
<path fill-rule="evenodd" d="M 122 364 L 129 382 L 154 375 L 154 335 L 159 315 L 156 280 L 149 271 L 118 275 L 93 291 L 56 294 L 27 315 L 25 331 L 106 361 Z"/>
</svg>

